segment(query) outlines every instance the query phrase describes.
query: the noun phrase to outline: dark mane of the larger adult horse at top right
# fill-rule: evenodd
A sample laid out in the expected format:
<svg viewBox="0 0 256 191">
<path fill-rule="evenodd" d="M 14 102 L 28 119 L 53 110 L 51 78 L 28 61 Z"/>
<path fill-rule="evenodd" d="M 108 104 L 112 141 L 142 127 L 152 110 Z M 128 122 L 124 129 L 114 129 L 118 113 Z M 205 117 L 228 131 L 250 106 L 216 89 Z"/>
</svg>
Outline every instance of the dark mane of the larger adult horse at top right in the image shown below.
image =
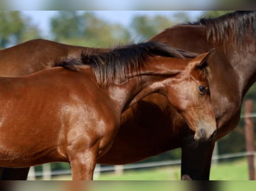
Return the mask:
<svg viewBox="0 0 256 191">
<path fill-rule="evenodd" d="M 216 44 L 225 44 L 232 39 L 234 46 L 238 46 L 247 42 L 248 37 L 256 37 L 256 11 L 236 11 L 187 24 L 205 26 L 208 41 L 211 39 Z"/>
</svg>

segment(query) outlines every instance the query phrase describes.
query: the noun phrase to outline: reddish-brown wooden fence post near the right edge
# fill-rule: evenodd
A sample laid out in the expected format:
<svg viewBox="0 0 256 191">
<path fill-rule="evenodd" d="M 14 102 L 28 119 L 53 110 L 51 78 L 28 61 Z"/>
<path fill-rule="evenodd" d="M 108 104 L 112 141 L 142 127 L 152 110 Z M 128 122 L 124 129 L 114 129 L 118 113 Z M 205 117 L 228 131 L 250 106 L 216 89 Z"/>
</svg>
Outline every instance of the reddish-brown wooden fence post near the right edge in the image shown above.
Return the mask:
<svg viewBox="0 0 256 191">
<path fill-rule="evenodd" d="M 248 156 L 249 176 L 250 180 L 255 180 L 255 168 L 254 168 L 254 123 L 253 117 L 250 114 L 253 112 L 253 100 L 248 99 L 244 103 L 245 108 L 245 141 L 247 152 L 252 153 Z"/>
</svg>

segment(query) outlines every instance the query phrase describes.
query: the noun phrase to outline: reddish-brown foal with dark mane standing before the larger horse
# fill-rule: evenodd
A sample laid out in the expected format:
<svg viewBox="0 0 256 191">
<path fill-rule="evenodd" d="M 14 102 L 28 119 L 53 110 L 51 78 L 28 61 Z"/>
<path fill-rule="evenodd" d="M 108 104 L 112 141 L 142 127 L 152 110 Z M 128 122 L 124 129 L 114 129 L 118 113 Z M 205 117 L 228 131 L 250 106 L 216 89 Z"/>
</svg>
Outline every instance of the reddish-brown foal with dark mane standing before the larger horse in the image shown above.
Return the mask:
<svg viewBox="0 0 256 191">
<path fill-rule="evenodd" d="M 148 42 L 87 52 L 55 65 L 69 70 L 1 77 L 0 165 L 70 162 L 73 179 L 92 180 L 97 159 L 118 132 L 121 113 L 151 93 L 168 98 L 196 140 L 213 139 L 206 64 L 212 53 L 191 58 L 195 55 Z"/>
</svg>

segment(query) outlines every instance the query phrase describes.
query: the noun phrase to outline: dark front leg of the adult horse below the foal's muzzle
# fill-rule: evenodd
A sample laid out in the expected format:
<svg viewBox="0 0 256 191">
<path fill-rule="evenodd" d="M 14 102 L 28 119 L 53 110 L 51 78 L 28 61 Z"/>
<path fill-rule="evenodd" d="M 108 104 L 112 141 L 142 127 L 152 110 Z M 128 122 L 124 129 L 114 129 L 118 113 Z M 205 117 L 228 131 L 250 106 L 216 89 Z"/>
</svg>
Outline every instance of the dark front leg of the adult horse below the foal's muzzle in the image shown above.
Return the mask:
<svg viewBox="0 0 256 191">
<path fill-rule="evenodd" d="M 214 142 L 200 142 L 195 148 L 188 142 L 183 143 L 181 177 L 188 175 L 192 180 L 209 180 L 213 149 Z"/>
</svg>

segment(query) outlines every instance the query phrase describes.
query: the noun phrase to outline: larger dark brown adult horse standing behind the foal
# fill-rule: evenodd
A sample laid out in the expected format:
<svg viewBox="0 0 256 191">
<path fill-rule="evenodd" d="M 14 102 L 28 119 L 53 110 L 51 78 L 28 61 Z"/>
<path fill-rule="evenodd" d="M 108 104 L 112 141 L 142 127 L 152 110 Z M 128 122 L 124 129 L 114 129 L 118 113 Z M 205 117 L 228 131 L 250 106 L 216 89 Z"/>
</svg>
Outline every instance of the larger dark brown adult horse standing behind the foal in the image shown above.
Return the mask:
<svg viewBox="0 0 256 191">
<path fill-rule="evenodd" d="M 255 17 L 254 11 L 245 11 L 230 13 L 216 19 L 201 19 L 196 23 L 169 28 L 151 39 L 197 53 L 216 48 L 215 55 L 208 62 L 213 76 L 210 81 L 212 104 L 218 124 L 215 140 L 236 127 L 240 118 L 242 99 L 256 79 Z M 40 52 L 34 51 L 31 44 L 40 45 Z M 33 59 L 38 61 L 37 58 L 40 54 L 45 55 L 48 47 L 52 50 L 51 62 L 59 59 L 54 55 L 65 56 L 68 54 L 66 50 L 72 50 L 65 45 L 44 40 L 30 41 L 19 46 L 18 52 L 21 55 L 25 55 L 27 50 L 30 50 L 31 55 L 35 55 L 24 62 L 29 62 L 30 67 L 20 66 L 31 73 L 37 69 L 34 66 L 37 62 L 33 62 Z M 1 58 L 6 57 L 8 61 L 11 57 L 18 65 L 19 60 L 14 56 L 16 50 L 16 47 L 13 47 L 9 54 L 2 55 L 0 51 Z M 63 55 L 60 54 L 61 51 Z M 1 59 L 0 63 L 3 70 L 12 64 L 3 63 Z M 42 64 L 47 67 L 47 63 Z M 181 175 L 188 174 L 194 180 L 208 180 L 214 143 L 195 146 L 193 140 L 190 142 L 187 138 L 190 136 L 187 129 L 182 117 L 163 96 L 147 96 L 123 113 L 121 128 L 111 149 L 98 162 L 131 163 L 181 147 Z M 136 135 L 133 133 L 135 131 Z M 25 179 L 28 172 L 28 169 L 5 170 L 4 179 Z"/>
</svg>

